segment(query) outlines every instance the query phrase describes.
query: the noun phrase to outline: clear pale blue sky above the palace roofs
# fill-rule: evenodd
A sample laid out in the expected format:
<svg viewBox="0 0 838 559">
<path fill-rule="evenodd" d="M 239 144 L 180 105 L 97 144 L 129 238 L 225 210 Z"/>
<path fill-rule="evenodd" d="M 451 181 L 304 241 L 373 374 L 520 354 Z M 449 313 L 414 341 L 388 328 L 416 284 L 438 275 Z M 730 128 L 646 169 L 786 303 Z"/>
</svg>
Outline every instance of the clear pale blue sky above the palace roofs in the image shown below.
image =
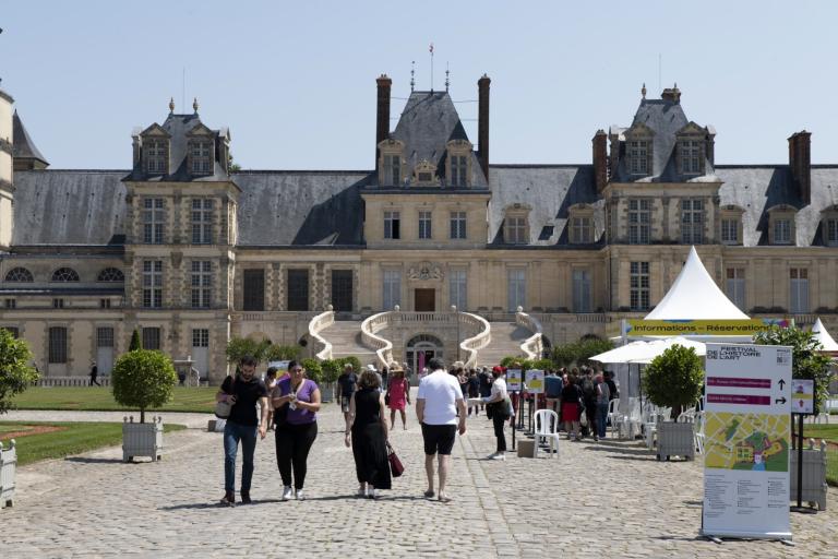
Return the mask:
<svg viewBox="0 0 838 559">
<path fill-rule="evenodd" d="M 578 5 L 577 5 L 578 4 Z M 838 163 L 838 3 L 158 1 L 9 2 L 0 78 L 55 168 L 128 168 L 131 130 L 170 96 L 228 126 L 243 168 L 373 166 L 375 78 L 392 127 L 410 86 L 451 95 L 477 142 L 477 80 L 492 79 L 492 163 L 589 163 L 598 128 L 627 126 L 645 82 L 678 82 L 716 160 L 786 163 L 806 129 Z M 185 68 L 185 92 L 182 87 Z"/>
</svg>

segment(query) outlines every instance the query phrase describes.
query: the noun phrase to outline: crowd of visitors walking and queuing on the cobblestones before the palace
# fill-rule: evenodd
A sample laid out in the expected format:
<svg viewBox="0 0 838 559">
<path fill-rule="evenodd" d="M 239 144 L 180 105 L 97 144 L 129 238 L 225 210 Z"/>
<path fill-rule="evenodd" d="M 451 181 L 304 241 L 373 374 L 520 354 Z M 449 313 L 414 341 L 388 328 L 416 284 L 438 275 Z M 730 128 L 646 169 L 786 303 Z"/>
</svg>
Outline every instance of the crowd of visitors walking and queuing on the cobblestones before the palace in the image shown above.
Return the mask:
<svg viewBox="0 0 838 559">
<path fill-rule="evenodd" d="M 513 365 L 513 367 L 515 367 Z M 264 380 L 255 374 L 256 361 L 244 357 L 235 376 L 228 377 L 216 394 L 217 402 L 231 404 L 224 430 L 225 495 L 222 504 L 236 503 L 236 457 L 242 452 L 240 502 L 250 503 L 253 456 L 258 438 L 274 430 L 276 463 L 283 480 L 282 500 L 304 499 L 309 451 L 318 437 L 318 412 L 322 400 L 318 384 L 306 378 L 298 361 L 288 364 L 282 376 L 268 368 Z M 359 497 L 376 499 L 381 490 L 391 489 L 390 432 L 396 426 L 396 412 L 403 429 L 408 428 L 406 407 L 410 405 L 410 383 L 406 367 L 394 362 L 381 372 L 370 365 L 356 373 L 351 364 L 338 377 L 335 402 L 345 421 L 345 443 L 351 448 L 356 465 Z M 420 373 L 416 396 L 416 417 L 424 445 L 424 469 L 428 489 L 424 496 L 442 502 L 451 501 L 447 475 L 451 452 L 457 432 L 466 432 L 466 419 L 484 413 L 492 420 L 496 439 L 490 460 L 505 460 L 505 427 L 515 416 L 504 367 L 468 369 L 462 361 L 446 368 L 440 358 L 431 358 Z M 567 438 L 580 440 L 606 435 L 609 402 L 619 396 L 612 374 L 582 367 L 570 371 L 547 371 L 546 407 L 556 412 Z M 531 405 L 539 405 L 529 396 Z M 258 412 L 259 409 L 259 412 Z M 387 420 L 390 409 L 390 420 Z M 585 420 L 583 421 L 583 417 Z M 586 427 L 582 427 L 582 424 Z"/>
</svg>

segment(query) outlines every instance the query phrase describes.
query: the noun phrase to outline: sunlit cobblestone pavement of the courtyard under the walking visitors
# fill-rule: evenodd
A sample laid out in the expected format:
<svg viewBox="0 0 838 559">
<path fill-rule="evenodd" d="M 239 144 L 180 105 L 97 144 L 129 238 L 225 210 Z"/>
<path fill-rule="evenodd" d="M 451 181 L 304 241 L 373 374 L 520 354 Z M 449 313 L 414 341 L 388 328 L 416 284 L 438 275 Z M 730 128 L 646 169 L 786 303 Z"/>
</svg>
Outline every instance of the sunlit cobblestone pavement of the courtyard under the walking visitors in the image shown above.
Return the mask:
<svg viewBox="0 0 838 559">
<path fill-rule="evenodd" d="M 21 468 L 15 506 L 0 511 L 0 557 L 838 555 L 835 502 L 827 512 L 792 515 L 797 547 L 716 545 L 697 538 L 699 463 L 658 463 L 637 444 L 610 440 L 563 440 L 559 460 L 510 453 L 505 462 L 487 461 L 494 438 L 483 417 L 470 419 L 455 445 L 454 501 L 429 501 L 421 437 L 409 419 L 407 431 L 393 435 L 405 476 L 379 501 L 352 497 L 352 457 L 334 404 L 321 417 L 302 502 L 279 501 L 272 433 L 256 448 L 254 503 L 232 509 L 216 504 L 220 435 L 199 429 L 167 435 L 159 463 L 123 464 L 121 450 L 111 448 Z"/>
</svg>

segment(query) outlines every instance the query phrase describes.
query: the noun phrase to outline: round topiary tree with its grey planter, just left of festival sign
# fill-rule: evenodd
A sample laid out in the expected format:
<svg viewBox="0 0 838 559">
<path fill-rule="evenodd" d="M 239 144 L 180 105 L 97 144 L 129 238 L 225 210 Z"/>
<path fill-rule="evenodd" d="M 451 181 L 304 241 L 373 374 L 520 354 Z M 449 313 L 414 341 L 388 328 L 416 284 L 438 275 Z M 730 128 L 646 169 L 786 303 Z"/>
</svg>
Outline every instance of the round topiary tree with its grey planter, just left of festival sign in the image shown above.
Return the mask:
<svg viewBox="0 0 838 559">
<path fill-rule="evenodd" d="M 643 390 L 649 401 L 672 408 L 672 418 L 693 405 L 702 395 L 704 370 L 695 349 L 673 345 L 657 356 L 643 376 Z M 692 423 L 658 421 L 658 460 L 670 456 L 695 457 Z"/>
</svg>

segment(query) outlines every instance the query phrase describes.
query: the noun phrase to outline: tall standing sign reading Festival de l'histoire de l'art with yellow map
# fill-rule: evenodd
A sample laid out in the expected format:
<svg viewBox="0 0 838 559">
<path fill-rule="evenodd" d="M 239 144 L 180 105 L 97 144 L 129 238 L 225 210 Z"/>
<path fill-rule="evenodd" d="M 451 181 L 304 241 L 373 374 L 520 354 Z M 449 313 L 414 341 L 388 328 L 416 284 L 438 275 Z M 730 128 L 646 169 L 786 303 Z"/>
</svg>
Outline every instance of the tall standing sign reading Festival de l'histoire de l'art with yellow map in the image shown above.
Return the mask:
<svg viewBox="0 0 838 559">
<path fill-rule="evenodd" d="M 791 348 L 707 344 L 702 534 L 787 539 Z"/>
</svg>

